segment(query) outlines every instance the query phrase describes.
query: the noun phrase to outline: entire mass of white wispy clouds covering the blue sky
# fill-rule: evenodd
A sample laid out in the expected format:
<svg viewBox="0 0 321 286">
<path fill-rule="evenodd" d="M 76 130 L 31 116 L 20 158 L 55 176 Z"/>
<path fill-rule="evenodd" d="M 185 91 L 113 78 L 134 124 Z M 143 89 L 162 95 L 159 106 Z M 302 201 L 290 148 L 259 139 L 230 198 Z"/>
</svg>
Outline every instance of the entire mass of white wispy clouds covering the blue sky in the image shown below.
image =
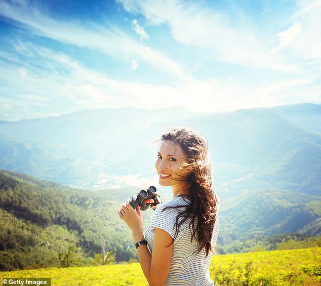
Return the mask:
<svg viewBox="0 0 321 286">
<path fill-rule="evenodd" d="M 44 116 L 41 109 L 35 112 L 36 106 L 47 108 L 65 103 L 70 107 L 64 111 L 57 107 L 48 114 L 124 106 L 146 109 L 184 106 L 193 111 L 215 112 L 292 102 L 321 103 L 321 36 L 315 26 L 320 21 L 315 11 L 319 6 L 315 4 L 313 9 L 302 8 L 292 21 L 287 22 L 288 28 L 275 32 L 273 35 L 279 39 L 279 44 L 272 40 L 271 46 L 259 43 L 259 38 L 250 30 L 233 28 L 226 15 L 202 8 L 197 3 L 188 6 L 187 2 L 179 1 L 124 0 L 123 5 L 130 12 L 144 15 L 149 24 L 167 25 L 179 43 L 193 46 L 192 49 L 200 47 L 200 50 L 195 49 L 195 54 L 186 52 L 184 55 L 192 55 L 190 71 L 166 56 L 166 52 L 171 52 L 170 48 L 164 52 L 152 49 L 115 26 L 105 28 L 93 23 L 58 22 L 43 12 L 36 12 L 29 5 L 10 6 L 0 2 L 0 15 L 18 21 L 23 29 L 33 34 L 121 59 L 128 65 L 130 75 L 133 74 L 130 70 L 139 68 L 141 71 L 144 62 L 147 62 L 162 71 L 167 80 L 170 78 L 168 85 L 150 84 L 145 78 L 131 81 L 118 77 L 115 80 L 103 71 L 87 68 L 81 59 L 76 59 L 76 54 L 68 56 L 36 44 L 24 43 L 19 37 L 20 40 L 15 39 L 11 52 L 9 48 L 8 51 L 0 51 L 0 79 L 6 83 L 6 86 L 0 86 L 0 94 L 5 95 L 5 99 L 0 100 L 2 113 L 12 114 L 10 112 L 15 109 L 16 116 L 24 116 L 26 110 L 29 117 Z M 140 27 L 135 20 L 132 25 L 133 28 L 135 25 Z M 140 30 L 143 35 L 142 31 L 144 29 Z M 139 34 L 139 30 L 136 32 Z M 179 48 L 184 49 L 182 46 Z M 211 73 L 206 74 L 209 68 L 206 57 L 197 58 L 196 54 L 204 50 L 210 51 L 213 69 L 218 68 L 217 62 L 213 61 L 217 58 L 219 61 L 259 67 L 262 74 L 244 82 L 238 79 L 238 83 L 235 83 L 234 75 L 222 77 L 226 78 L 224 80 L 219 79 L 220 75 L 214 78 Z M 226 66 L 223 68 L 224 73 L 230 71 Z M 268 77 L 262 80 L 266 69 L 289 73 L 276 73 L 276 81 Z M 189 72 L 197 74 L 197 79 Z M 199 76 L 203 73 L 206 79 Z M 284 76 L 279 77 L 279 74 Z M 247 77 L 250 75 L 245 75 Z M 257 78 L 263 84 L 256 83 Z"/>
</svg>

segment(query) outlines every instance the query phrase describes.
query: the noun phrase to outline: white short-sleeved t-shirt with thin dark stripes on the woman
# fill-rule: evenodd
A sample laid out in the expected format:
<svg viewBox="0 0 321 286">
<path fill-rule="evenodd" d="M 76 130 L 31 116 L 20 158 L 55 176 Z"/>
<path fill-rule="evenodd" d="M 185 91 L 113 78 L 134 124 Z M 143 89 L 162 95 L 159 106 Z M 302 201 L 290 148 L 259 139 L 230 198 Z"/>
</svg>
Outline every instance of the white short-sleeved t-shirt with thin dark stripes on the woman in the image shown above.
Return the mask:
<svg viewBox="0 0 321 286">
<path fill-rule="evenodd" d="M 153 250 L 153 240 L 155 227 L 168 232 L 172 237 L 175 235 L 175 219 L 179 209 L 166 209 L 166 207 L 175 207 L 188 205 L 189 200 L 182 197 L 175 197 L 159 205 L 150 218 L 150 224 L 145 232 L 145 238 L 150 253 Z M 214 285 L 210 278 L 209 266 L 212 259 L 212 253 L 205 257 L 205 251 L 194 253 L 197 250 L 197 241 L 191 241 L 192 232 L 189 228 L 190 219 L 186 220 L 179 229 L 178 236 L 173 244 L 172 262 L 165 285 Z M 195 225 L 196 227 L 196 225 Z M 219 220 L 217 217 L 215 229 L 212 237 L 212 245 L 215 246 L 219 229 Z"/>
</svg>

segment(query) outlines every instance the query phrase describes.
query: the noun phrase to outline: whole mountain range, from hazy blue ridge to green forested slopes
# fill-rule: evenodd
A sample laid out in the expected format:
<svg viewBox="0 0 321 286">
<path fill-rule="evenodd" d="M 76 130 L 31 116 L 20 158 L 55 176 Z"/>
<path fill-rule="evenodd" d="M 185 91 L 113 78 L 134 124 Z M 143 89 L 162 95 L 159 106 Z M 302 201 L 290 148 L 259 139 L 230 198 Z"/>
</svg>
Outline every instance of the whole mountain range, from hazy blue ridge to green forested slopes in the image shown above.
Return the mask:
<svg viewBox="0 0 321 286">
<path fill-rule="evenodd" d="M 321 234 L 321 105 L 214 114 L 87 110 L 0 121 L 0 268 L 28 266 L 31 254 L 34 261 L 55 258 L 72 241 L 85 256 L 99 253 L 106 241 L 116 261 L 135 257 L 116 210 L 149 185 L 171 197 L 157 184 L 153 165 L 159 135 L 174 125 L 208 140 L 220 198 L 219 247 L 238 249 L 237 241 L 253 237 Z M 150 212 L 144 215 L 148 224 Z M 18 252 L 25 264 L 18 265 Z"/>
</svg>

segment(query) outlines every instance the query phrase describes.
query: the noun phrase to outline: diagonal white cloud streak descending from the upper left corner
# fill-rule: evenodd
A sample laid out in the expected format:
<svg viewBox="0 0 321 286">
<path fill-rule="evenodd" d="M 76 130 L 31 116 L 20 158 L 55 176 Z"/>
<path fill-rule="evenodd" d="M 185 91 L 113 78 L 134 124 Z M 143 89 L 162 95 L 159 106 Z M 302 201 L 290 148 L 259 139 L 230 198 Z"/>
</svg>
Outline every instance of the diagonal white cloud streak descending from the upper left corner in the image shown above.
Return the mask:
<svg viewBox="0 0 321 286">
<path fill-rule="evenodd" d="M 81 48 L 98 50 L 118 59 L 135 57 L 177 78 L 187 76 L 180 64 L 169 59 L 162 52 L 135 41 L 114 26 L 107 29 L 91 22 L 58 21 L 31 5 L 11 5 L 5 1 L 0 2 L 0 15 L 5 19 L 17 21 L 17 25 L 36 35 Z M 141 29 L 140 32 L 142 31 Z"/>
</svg>

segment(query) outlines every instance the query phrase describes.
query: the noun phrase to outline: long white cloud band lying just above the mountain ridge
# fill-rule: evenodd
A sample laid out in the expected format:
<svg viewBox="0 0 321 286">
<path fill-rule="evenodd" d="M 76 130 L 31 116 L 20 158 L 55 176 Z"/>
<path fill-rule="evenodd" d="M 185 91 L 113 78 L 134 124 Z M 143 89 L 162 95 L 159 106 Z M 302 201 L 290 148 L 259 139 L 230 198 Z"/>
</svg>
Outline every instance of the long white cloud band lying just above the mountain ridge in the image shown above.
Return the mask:
<svg viewBox="0 0 321 286">
<path fill-rule="evenodd" d="M 35 103 L 52 105 L 53 102 L 69 100 L 78 109 L 100 109 L 107 107 L 132 106 L 136 108 L 168 108 L 183 106 L 193 111 L 223 112 L 239 108 L 273 106 L 287 103 L 296 97 L 296 102 L 304 98 L 320 102 L 320 87 L 309 87 L 311 79 L 293 78 L 270 82 L 265 86 L 240 85 L 223 82 L 215 78 L 178 81 L 172 85 L 146 84 L 139 81 L 111 79 L 107 74 L 86 68 L 75 59 L 48 48 L 23 45 L 21 53 L 33 55 L 43 62 L 38 65 L 51 66 L 51 70 L 28 71 L 17 86 L 17 69 L 3 65 L 0 74 L 4 81 L 16 89 L 20 95 L 17 101 L 4 102 L 21 109 L 32 108 Z M 23 51 L 23 52 L 22 52 Z M 31 57 L 31 56 L 30 56 Z M 28 65 L 28 57 L 25 64 Z M 21 67 L 25 68 L 25 67 Z M 63 69 L 63 72 L 60 71 Z M 16 72 L 14 72 L 16 71 Z M 23 87 L 23 90 L 20 90 Z M 3 89 L 3 88 L 2 88 Z M 3 93 L 3 91 L 0 90 Z M 32 110 L 32 109 L 31 109 Z M 70 110 L 75 111 L 75 110 Z M 37 114 L 40 114 L 38 112 Z M 53 112 L 52 113 L 58 113 Z M 35 115 L 35 114 L 33 114 Z M 40 115 L 39 115 L 40 116 Z M 43 115 L 42 115 L 43 116 Z"/>
</svg>

